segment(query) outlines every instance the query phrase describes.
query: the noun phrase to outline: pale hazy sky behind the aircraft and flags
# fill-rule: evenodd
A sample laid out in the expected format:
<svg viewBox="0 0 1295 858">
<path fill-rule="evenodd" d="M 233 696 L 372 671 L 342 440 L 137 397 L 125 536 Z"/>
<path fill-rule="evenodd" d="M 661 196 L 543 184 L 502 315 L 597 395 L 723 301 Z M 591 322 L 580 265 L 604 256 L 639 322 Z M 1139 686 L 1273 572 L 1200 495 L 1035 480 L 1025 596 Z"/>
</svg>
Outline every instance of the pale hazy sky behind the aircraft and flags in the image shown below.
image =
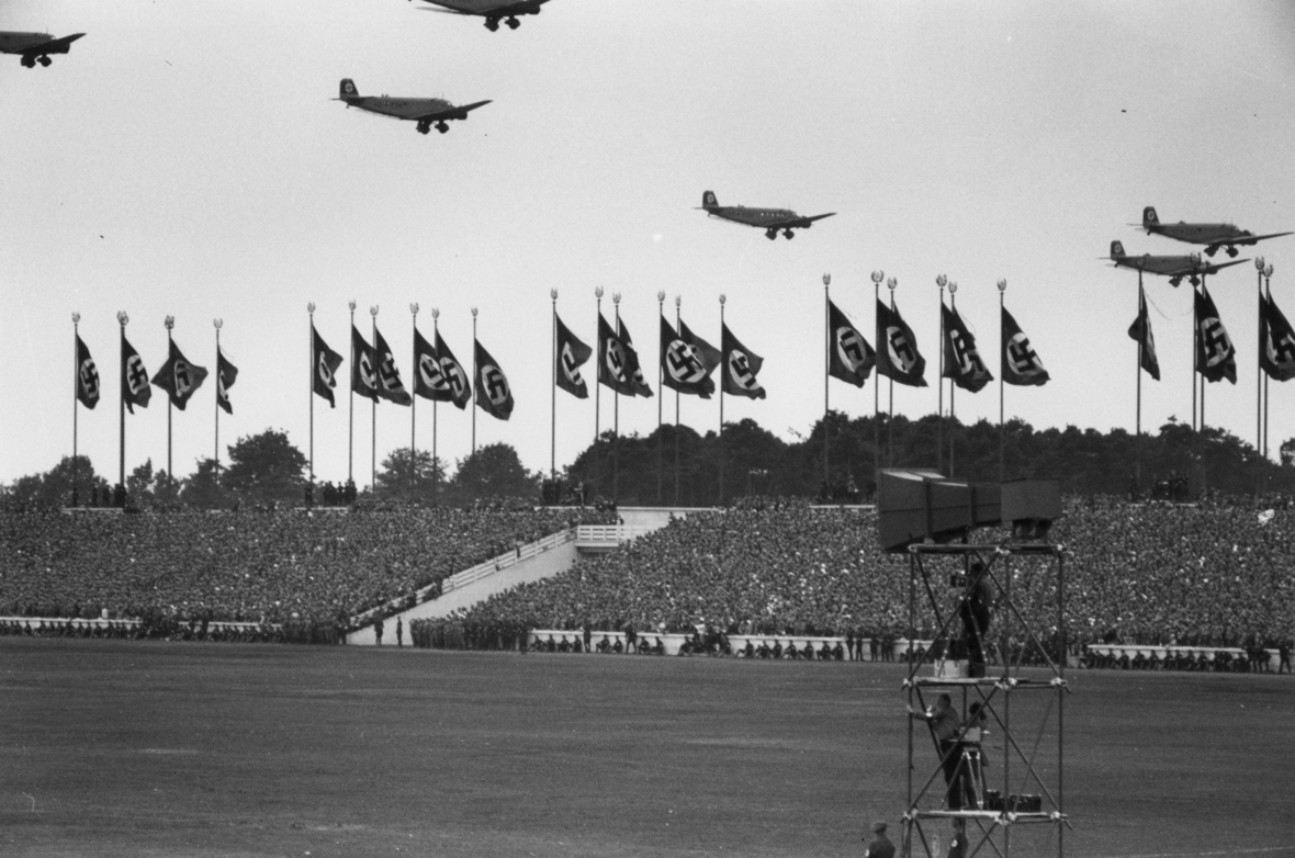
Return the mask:
<svg viewBox="0 0 1295 858">
<path fill-rule="evenodd" d="M 80 410 L 80 450 L 115 479 L 118 311 L 150 373 L 163 318 L 188 357 L 215 368 L 212 318 L 241 375 L 221 444 L 265 427 L 308 445 L 308 318 L 343 355 L 347 302 L 368 308 L 409 383 L 409 304 L 471 358 L 471 316 L 502 364 L 513 419 L 477 417 L 478 444 L 549 463 L 549 290 L 594 342 L 594 287 L 655 379 L 657 292 L 719 344 L 725 320 L 765 357 L 764 401 L 726 399 L 791 440 L 822 413 L 822 274 L 873 338 L 869 272 L 927 356 L 926 390 L 895 409 L 934 413 L 939 292 L 995 375 L 995 282 L 1052 373 L 1009 388 L 1008 415 L 1036 427 L 1132 428 L 1137 276 L 1106 256 L 1189 252 L 1131 224 L 1233 220 L 1295 229 L 1295 10 L 1287 3 L 866 3 L 553 0 L 517 31 L 401 0 L 111 4 L 0 0 L 0 28 L 87 32 L 49 69 L 0 57 L 0 480 L 43 471 L 73 445 L 73 326 L 104 382 Z M 329 101 L 361 94 L 493 100 L 447 135 Z M 707 219 L 721 203 L 839 212 L 791 242 Z M 1295 237 L 1259 246 L 1295 317 Z M 1256 255 L 1254 250 L 1243 254 Z M 1216 259 L 1224 259 L 1219 256 Z M 1287 261 L 1290 260 L 1290 261 Z M 1211 280 L 1238 348 L 1238 383 L 1211 384 L 1206 419 L 1255 437 L 1256 277 Z M 1149 278 L 1162 378 L 1143 426 L 1190 417 L 1191 291 Z M 347 371 L 343 366 L 343 373 Z M 585 369 L 592 378 L 592 366 Z M 831 405 L 870 413 L 831 383 Z M 997 419 L 998 387 L 957 397 Z M 212 453 L 212 380 L 176 412 L 175 470 Z M 945 395 L 947 400 L 947 395 Z M 667 391 L 666 417 L 675 397 Z M 884 406 L 886 388 L 882 388 Z M 947 405 L 947 402 L 945 402 Z M 611 397 L 602 397 L 602 426 Z M 344 479 L 347 397 L 316 400 L 316 474 Z M 682 422 L 715 428 L 717 400 L 684 397 Z M 369 404 L 356 401 L 355 472 L 368 481 Z M 127 468 L 166 461 L 166 400 L 127 417 Z M 418 445 L 431 406 L 418 404 Z M 593 437 L 593 399 L 558 393 L 561 467 Z M 623 400 L 623 432 L 650 432 L 657 400 Z M 378 406 L 379 459 L 409 444 L 409 409 Z M 469 452 L 471 417 L 439 408 L 439 452 Z M 1272 384 L 1272 453 L 1295 435 L 1295 384 Z M 221 449 L 221 457 L 225 452 Z"/>
</svg>

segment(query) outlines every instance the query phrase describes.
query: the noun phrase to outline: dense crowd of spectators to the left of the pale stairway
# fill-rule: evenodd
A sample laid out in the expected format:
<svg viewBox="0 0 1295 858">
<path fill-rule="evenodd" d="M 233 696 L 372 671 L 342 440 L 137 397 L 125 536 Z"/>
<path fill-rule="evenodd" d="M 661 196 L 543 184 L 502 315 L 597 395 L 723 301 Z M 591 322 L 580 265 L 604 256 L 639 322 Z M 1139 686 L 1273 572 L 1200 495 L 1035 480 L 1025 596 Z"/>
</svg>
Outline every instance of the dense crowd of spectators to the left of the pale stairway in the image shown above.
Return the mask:
<svg viewBox="0 0 1295 858">
<path fill-rule="evenodd" d="M 607 512 L 0 512 L 0 616 L 334 622 Z"/>
</svg>

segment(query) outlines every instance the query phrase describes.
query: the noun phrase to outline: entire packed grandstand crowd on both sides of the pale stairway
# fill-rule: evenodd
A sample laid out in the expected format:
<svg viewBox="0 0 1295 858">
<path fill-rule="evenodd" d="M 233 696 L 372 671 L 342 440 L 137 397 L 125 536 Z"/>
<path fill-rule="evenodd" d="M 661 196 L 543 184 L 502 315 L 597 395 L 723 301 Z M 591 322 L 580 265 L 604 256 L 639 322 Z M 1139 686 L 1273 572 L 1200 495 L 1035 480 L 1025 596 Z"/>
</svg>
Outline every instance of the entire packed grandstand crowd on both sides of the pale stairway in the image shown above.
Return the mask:
<svg viewBox="0 0 1295 858">
<path fill-rule="evenodd" d="M 1265 509 L 1267 507 L 1267 509 Z M 0 514 L 0 615 L 140 621 L 146 637 L 334 641 L 356 617 L 491 556 L 615 512 L 523 503 L 142 514 Z M 982 533 L 983 540 L 1001 533 Z M 1052 538 L 1067 549 L 1074 643 L 1276 647 L 1295 629 L 1295 509 L 1070 498 Z M 1014 567 L 1014 600 L 1055 626 L 1045 576 Z M 868 507 L 771 500 L 694 512 L 570 571 L 412 625 L 464 644 L 518 647 L 527 629 L 743 634 L 908 634 L 908 560 L 883 554 Z M 396 608 L 390 608 L 394 612 Z M 435 628 L 433 628 L 435 625 Z M 315 628 L 335 632 L 311 632 Z M 930 635 L 929 617 L 913 629 Z M 63 629 L 53 622 L 48 629 Z M 118 626 L 124 629 L 128 626 Z M 87 633 L 88 634 L 88 633 Z M 98 633 L 96 633 L 98 634 Z"/>
</svg>

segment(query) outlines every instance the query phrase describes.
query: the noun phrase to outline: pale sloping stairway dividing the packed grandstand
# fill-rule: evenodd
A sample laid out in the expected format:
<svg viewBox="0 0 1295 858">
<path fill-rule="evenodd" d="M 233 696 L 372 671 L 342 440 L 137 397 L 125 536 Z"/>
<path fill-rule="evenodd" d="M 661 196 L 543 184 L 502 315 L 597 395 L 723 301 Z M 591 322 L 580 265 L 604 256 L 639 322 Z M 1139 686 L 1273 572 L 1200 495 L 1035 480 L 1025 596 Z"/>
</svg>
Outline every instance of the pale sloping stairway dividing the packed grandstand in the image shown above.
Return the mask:
<svg viewBox="0 0 1295 858">
<path fill-rule="evenodd" d="M 519 584 L 531 584 L 553 577 L 571 568 L 581 555 L 606 554 L 619 545 L 631 542 L 640 536 L 666 527 L 672 518 L 686 518 L 689 512 L 702 510 L 693 507 L 622 507 L 618 510 L 620 524 L 581 524 L 572 529 L 558 531 L 527 545 L 519 545 L 515 551 L 500 554 L 496 558 L 478 563 L 449 576 L 442 582 L 440 595 L 435 595 L 435 585 L 417 593 L 417 604 L 405 611 L 396 611 L 404 600 L 386 606 L 382 629 L 382 644 L 395 646 L 396 620 L 409 628 L 411 620 L 443 617 L 458 610 L 488 599 Z M 348 644 L 374 646 L 377 633 L 373 620 L 378 611 L 359 617 L 359 630 L 346 635 Z M 408 634 L 405 634 L 408 641 Z"/>
</svg>

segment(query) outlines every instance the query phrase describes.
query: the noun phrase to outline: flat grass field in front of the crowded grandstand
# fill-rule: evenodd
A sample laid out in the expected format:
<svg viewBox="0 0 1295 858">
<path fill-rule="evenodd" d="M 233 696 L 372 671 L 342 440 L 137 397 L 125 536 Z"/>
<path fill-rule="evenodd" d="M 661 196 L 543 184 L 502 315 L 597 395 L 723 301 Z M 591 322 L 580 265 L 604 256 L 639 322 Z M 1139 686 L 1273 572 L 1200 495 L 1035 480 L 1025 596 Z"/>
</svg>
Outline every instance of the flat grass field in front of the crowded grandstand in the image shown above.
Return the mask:
<svg viewBox="0 0 1295 858">
<path fill-rule="evenodd" d="M 859 855 L 897 840 L 901 678 L 0 638 L 0 854 Z M 1070 679 L 1067 855 L 1295 857 L 1295 679 Z"/>
</svg>

